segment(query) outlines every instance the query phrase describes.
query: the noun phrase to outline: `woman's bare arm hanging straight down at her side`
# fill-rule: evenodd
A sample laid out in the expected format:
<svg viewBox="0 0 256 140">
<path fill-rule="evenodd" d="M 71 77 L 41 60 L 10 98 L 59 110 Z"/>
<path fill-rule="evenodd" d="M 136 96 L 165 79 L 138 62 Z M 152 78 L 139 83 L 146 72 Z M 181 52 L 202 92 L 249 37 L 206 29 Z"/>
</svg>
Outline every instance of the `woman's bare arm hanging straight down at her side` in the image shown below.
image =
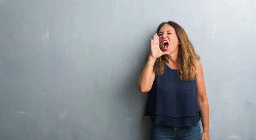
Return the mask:
<svg viewBox="0 0 256 140">
<path fill-rule="evenodd" d="M 205 84 L 204 84 L 204 73 L 201 62 L 196 60 L 197 65 L 197 73 L 198 76 L 196 78 L 196 90 L 197 90 L 197 98 L 198 104 L 201 112 L 201 120 L 203 125 L 203 133 L 209 134 L 209 106 L 208 106 L 208 98 L 206 94 Z"/>
</svg>

